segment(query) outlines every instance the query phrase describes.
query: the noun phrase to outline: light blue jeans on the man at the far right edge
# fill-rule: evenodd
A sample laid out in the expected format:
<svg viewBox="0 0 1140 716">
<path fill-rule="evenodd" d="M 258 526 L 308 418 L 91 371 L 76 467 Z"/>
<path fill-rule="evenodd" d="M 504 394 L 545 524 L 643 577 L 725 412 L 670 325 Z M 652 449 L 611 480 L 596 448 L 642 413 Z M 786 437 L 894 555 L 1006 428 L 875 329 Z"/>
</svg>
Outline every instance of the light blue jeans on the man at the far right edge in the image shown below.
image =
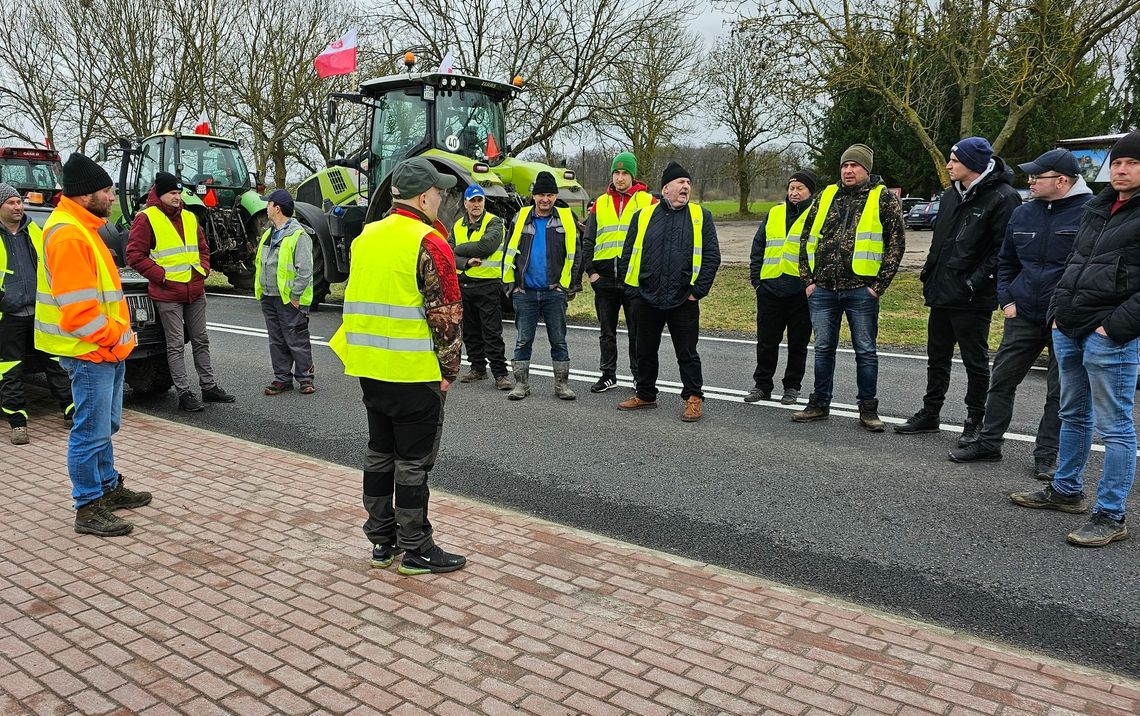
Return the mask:
<svg viewBox="0 0 1140 716">
<path fill-rule="evenodd" d="M 1137 471 L 1137 433 L 1132 424 L 1140 339 L 1117 343 L 1090 333 L 1070 339 L 1053 328 L 1053 350 L 1061 379 L 1061 434 L 1053 489 L 1076 495 L 1092 449 L 1092 431 L 1105 442 L 1105 471 L 1097 506 L 1119 520 Z"/>
</svg>

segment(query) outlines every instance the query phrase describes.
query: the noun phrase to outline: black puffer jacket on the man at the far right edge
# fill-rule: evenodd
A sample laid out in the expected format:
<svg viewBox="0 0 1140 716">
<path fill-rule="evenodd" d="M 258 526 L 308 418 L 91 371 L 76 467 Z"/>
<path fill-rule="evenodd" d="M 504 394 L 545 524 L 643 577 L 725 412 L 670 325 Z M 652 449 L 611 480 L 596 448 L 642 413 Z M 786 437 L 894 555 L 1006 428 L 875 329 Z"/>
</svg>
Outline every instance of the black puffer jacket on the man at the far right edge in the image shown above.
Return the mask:
<svg viewBox="0 0 1140 716">
<path fill-rule="evenodd" d="M 1100 326 L 1117 343 L 1140 336 L 1140 194 L 1114 213 L 1116 198 L 1108 187 L 1085 204 L 1053 293 L 1049 319 L 1073 339 Z"/>
</svg>

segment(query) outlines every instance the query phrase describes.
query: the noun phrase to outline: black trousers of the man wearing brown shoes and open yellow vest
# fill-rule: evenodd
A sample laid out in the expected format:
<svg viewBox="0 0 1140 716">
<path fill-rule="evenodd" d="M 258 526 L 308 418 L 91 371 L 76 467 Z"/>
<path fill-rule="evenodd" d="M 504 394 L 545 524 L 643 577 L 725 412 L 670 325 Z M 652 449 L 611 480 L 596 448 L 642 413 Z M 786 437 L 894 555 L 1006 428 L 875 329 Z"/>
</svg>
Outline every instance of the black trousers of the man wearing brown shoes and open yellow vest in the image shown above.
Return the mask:
<svg viewBox="0 0 1140 716">
<path fill-rule="evenodd" d="M 673 350 L 681 368 L 681 397 L 705 397 L 701 387 L 701 357 L 697 355 L 697 339 L 700 337 L 701 309 L 699 301 L 685 301 L 676 308 L 653 308 L 642 299 L 634 299 L 637 315 L 637 397 L 657 400 L 657 374 L 660 369 L 658 351 L 661 333 L 669 327 Z"/>
</svg>

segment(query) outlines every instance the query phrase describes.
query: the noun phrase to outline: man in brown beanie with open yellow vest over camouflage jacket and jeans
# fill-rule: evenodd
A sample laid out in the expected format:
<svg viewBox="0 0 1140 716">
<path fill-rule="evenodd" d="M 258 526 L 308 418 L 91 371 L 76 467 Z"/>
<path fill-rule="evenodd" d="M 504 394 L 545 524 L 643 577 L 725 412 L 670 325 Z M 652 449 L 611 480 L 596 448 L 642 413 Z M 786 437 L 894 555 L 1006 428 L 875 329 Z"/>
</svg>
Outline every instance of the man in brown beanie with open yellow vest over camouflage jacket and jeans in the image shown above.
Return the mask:
<svg viewBox="0 0 1140 716">
<path fill-rule="evenodd" d="M 906 227 L 898 198 L 872 174 L 874 152 L 864 144 L 847 147 L 839 158 L 839 184 L 820 192 L 804 219 L 799 277 L 804 282 L 815 331 L 815 388 L 797 423 L 831 414 L 839 322 L 847 316 L 855 348 L 858 421 L 882 432 L 879 420 L 879 299 L 898 271 Z"/>
</svg>

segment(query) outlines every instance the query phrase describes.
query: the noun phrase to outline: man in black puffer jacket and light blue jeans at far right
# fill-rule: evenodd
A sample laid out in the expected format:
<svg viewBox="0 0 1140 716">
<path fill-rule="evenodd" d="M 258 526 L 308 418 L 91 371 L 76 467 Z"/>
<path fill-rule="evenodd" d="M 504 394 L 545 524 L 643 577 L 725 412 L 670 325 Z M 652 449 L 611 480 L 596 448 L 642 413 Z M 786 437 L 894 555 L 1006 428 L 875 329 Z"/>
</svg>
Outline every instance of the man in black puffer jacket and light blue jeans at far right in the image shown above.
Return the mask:
<svg viewBox="0 0 1140 716">
<path fill-rule="evenodd" d="M 1108 153 L 1112 186 L 1085 204 L 1048 320 L 1061 381 L 1057 475 L 1036 493 L 1010 495 L 1013 504 L 1083 513 L 1084 469 L 1093 432 L 1105 444 L 1097 503 L 1068 542 L 1101 547 L 1127 539 L 1125 503 L 1137 469 L 1132 422 L 1140 363 L 1140 131 Z"/>
</svg>

